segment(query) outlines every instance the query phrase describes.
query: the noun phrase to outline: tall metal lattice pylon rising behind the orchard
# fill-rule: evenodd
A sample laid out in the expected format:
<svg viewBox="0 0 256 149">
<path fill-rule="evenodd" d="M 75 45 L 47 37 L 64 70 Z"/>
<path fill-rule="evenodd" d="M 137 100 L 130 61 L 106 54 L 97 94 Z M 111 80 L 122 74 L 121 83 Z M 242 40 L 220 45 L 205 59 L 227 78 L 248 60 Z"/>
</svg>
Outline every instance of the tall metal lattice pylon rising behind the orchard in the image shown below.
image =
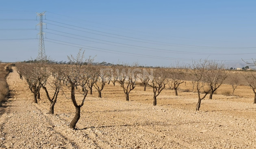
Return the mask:
<svg viewBox="0 0 256 149">
<path fill-rule="evenodd" d="M 43 40 L 43 34 L 45 34 L 43 32 L 43 25 L 45 25 L 46 23 L 43 23 L 43 15 L 45 15 L 46 11 L 44 11 L 43 13 L 37 13 L 37 16 L 39 16 L 39 23 L 37 25 L 39 25 L 40 28 L 40 32 L 39 34 L 39 49 L 38 49 L 38 56 L 37 56 L 37 61 L 46 61 L 46 51 L 44 49 L 44 40 Z M 37 35 L 38 35 L 37 34 Z"/>
</svg>

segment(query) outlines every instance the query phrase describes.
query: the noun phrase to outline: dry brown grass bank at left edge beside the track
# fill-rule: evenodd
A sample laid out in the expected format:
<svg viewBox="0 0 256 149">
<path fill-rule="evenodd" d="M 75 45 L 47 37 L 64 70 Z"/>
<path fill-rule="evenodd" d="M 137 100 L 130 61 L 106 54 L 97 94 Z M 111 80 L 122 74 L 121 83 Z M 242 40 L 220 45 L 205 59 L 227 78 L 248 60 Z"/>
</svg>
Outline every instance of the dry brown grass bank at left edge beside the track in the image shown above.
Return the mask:
<svg viewBox="0 0 256 149">
<path fill-rule="evenodd" d="M 5 66 L 7 66 L 7 64 L 0 64 L 0 102 L 2 102 L 9 94 L 5 81 L 5 77 L 9 72 L 4 70 Z"/>
</svg>

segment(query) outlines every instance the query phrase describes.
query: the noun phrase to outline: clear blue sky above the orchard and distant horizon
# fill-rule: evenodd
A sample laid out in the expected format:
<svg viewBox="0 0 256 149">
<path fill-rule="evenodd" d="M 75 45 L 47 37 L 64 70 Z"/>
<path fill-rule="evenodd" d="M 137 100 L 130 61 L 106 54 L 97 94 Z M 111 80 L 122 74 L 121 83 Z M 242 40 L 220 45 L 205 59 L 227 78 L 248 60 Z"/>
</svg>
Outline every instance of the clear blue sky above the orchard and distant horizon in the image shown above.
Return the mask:
<svg viewBox="0 0 256 149">
<path fill-rule="evenodd" d="M 96 62 L 147 66 L 256 56 L 255 0 L 2 0 L 1 61 L 37 57 L 43 11 L 46 55 L 56 61 L 79 48 Z"/>
</svg>

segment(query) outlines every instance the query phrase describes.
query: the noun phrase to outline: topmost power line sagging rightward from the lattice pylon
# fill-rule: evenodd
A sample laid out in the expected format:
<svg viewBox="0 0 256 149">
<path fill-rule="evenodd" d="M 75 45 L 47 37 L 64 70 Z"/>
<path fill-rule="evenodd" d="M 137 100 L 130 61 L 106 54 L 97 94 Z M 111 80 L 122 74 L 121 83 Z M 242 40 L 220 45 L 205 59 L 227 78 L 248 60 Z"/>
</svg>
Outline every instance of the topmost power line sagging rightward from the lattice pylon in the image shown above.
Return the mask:
<svg viewBox="0 0 256 149">
<path fill-rule="evenodd" d="M 48 20 L 48 19 L 46 19 Z M 48 21 L 52 21 L 52 20 L 48 20 Z M 134 38 L 134 37 L 129 37 L 129 36 L 122 36 L 122 35 L 118 35 L 118 34 L 112 34 L 112 33 L 107 33 L 104 31 L 97 31 L 94 29 L 89 29 L 89 28 L 85 28 L 85 27 L 79 27 L 79 26 L 75 26 L 75 25 L 70 25 L 67 23 L 61 23 L 58 21 L 52 21 L 52 22 L 56 22 L 56 23 L 60 23 L 60 24 L 64 24 L 64 25 L 68 25 L 68 26 L 72 26 L 72 27 L 78 27 L 78 28 L 82 28 L 82 29 L 87 29 L 87 30 L 91 30 L 91 31 L 96 31 L 96 32 L 100 32 L 100 33 L 104 33 L 104 34 L 110 34 L 110 35 L 115 35 L 115 36 L 121 36 L 121 37 L 126 37 L 126 38 L 132 38 L 132 39 L 137 39 L 137 40 L 144 40 L 144 41 L 150 41 L 150 42 L 159 42 L 159 41 L 154 41 L 154 40 L 146 40 L 146 39 L 141 39 L 141 38 Z M 50 24 L 50 23 L 48 23 Z M 166 43 L 166 44 L 171 44 L 171 43 L 167 43 L 167 42 L 160 42 L 160 43 Z M 240 48 L 256 48 L 256 47 L 217 47 L 217 46 L 196 46 L 196 45 L 188 45 L 188 44 L 176 44 L 176 45 L 181 45 L 181 46 L 193 46 L 193 47 L 202 47 L 202 48 L 222 48 L 222 49 L 240 49 Z M 171 46 L 171 45 L 170 45 Z"/>
</svg>

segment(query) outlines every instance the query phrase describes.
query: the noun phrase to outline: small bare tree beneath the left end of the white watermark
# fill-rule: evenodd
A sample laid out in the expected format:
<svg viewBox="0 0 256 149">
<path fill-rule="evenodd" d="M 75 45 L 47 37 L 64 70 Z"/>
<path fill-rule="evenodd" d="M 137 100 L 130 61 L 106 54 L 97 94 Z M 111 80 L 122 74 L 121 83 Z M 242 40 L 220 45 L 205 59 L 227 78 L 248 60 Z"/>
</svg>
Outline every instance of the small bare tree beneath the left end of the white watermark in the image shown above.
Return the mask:
<svg viewBox="0 0 256 149">
<path fill-rule="evenodd" d="M 98 77 L 97 81 L 95 82 L 95 84 L 93 84 L 93 86 L 96 88 L 96 90 L 98 90 L 98 97 L 101 98 L 101 91 L 103 90 L 107 81 L 108 69 L 100 69 L 100 67 L 97 67 L 96 71 L 98 72 Z"/>
</svg>

